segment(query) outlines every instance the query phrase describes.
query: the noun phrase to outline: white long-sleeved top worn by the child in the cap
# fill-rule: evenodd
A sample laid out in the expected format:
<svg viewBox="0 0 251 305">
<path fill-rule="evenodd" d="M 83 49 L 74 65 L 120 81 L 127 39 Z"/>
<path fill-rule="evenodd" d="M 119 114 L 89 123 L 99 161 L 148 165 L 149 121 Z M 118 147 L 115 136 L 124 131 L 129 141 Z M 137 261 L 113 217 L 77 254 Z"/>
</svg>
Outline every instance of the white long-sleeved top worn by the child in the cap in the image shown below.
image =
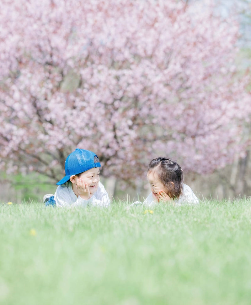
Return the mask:
<svg viewBox="0 0 251 305">
<path fill-rule="evenodd" d="M 70 206 L 82 206 L 87 205 L 107 207 L 110 205 L 109 196 L 104 188 L 104 185 L 99 182 L 97 191 L 88 200 L 76 196 L 72 190 L 72 183 L 70 181 L 65 184 L 59 185 L 54 195 L 56 206 L 58 207 L 70 207 Z"/>
</svg>

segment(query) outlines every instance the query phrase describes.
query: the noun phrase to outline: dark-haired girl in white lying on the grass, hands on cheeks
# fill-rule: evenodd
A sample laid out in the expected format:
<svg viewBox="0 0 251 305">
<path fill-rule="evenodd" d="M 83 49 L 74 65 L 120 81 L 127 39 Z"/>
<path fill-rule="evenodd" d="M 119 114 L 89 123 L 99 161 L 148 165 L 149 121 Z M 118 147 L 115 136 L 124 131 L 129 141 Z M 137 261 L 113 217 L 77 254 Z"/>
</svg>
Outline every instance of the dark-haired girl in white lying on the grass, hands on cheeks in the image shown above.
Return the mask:
<svg viewBox="0 0 251 305">
<path fill-rule="evenodd" d="M 199 203 L 199 199 L 190 187 L 183 183 L 181 167 L 171 159 L 162 157 L 153 159 L 149 163 L 147 180 L 152 192 L 143 202 L 144 205 L 170 201 L 174 205 Z"/>
</svg>

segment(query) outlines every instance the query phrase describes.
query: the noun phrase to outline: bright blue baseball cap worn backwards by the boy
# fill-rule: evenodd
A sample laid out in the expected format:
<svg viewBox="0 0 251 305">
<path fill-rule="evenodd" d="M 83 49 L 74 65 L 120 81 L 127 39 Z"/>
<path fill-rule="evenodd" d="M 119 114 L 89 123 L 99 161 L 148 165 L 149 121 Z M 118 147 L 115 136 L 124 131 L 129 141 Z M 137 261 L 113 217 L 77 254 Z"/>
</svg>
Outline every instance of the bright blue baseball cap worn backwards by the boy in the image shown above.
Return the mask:
<svg viewBox="0 0 251 305">
<path fill-rule="evenodd" d="M 94 157 L 96 157 L 96 162 L 94 161 Z M 93 167 L 100 167 L 98 156 L 89 150 L 76 148 L 76 150 L 70 153 L 66 158 L 65 177 L 58 181 L 57 185 L 64 184 L 72 175 L 83 173 Z"/>
</svg>

